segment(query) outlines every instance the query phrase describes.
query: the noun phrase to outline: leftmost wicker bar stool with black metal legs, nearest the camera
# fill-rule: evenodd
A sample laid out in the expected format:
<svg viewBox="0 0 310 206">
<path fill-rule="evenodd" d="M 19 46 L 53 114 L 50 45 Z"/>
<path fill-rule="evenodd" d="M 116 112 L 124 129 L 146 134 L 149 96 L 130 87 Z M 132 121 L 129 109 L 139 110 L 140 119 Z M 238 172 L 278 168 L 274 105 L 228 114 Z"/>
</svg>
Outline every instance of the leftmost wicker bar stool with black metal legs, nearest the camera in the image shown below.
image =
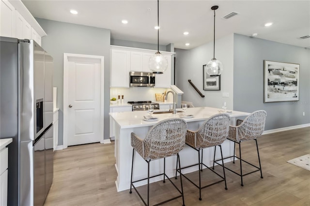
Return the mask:
<svg viewBox="0 0 310 206">
<path fill-rule="evenodd" d="M 162 120 L 162 121 L 158 122 L 157 124 L 155 124 L 149 130 L 145 139 L 143 139 L 143 140 L 139 136 L 137 136 L 134 132 L 131 133 L 131 146 L 133 147 L 133 153 L 132 153 L 132 166 L 131 166 L 130 193 L 132 193 L 131 189 L 133 187 L 135 189 L 135 191 L 138 193 L 138 195 L 140 196 L 144 205 L 149 206 L 150 178 L 163 175 L 163 178 L 164 178 L 163 182 L 165 182 L 165 177 L 167 177 L 167 179 L 169 179 L 169 181 L 177 189 L 177 191 L 180 192 L 180 195 L 178 195 L 174 198 L 171 198 L 169 200 L 165 200 L 165 201 L 158 203 L 156 205 L 161 205 L 161 204 L 167 203 L 171 200 L 182 197 L 183 206 L 185 206 L 182 178 L 180 178 L 180 181 L 181 181 L 181 191 L 180 191 L 165 173 L 165 160 L 166 160 L 166 157 L 171 157 L 171 156 L 176 155 L 177 156 L 177 162 L 179 162 L 179 168 L 181 168 L 180 161 L 178 161 L 180 159 L 179 151 L 181 149 L 183 149 L 185 146 L 186 129 L 187 129 L 187 123 L 184 119 L 182 119 L 182 118 L 170 118 L 170 119 Z M 144 179 L 132 181 L 135 150 L 138 152 L 138 154 L 140 154 L 140 156 L 148 164 L 148 177 L 144 178 Z M 164 158 L 164 173 L 150 177 L 150 162 L 152 160 L 157 160 L 157 159 L 161 159 L 161 158 Z M 181 170 L 180 170 L 180 172 L 181 172 Z M 134 186 L 134 183 L 142 181 L 142 180 L 146 180 L 146 179 L 147 179 L 147 185 L 148 185 L 147 186 L 147 202 L 145 202 L 143 200 L 139 191 Z"/>
</svg>

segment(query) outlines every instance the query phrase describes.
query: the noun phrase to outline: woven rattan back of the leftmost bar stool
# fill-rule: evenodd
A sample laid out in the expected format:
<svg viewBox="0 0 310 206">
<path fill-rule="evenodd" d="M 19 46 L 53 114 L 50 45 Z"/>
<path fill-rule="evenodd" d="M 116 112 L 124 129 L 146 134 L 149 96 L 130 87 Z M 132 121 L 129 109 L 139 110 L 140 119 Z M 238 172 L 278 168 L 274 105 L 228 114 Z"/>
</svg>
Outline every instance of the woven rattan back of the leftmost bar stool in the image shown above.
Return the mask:
<svg viewBox="0 0 310 206">
<path fill-rule="evenodd" d="M 185 146 L 187 123 L 182 118 L 170 118 L 155 124 L 144 139 L 144 159 L 165 158 L 179 153 Z"/>
</svg>

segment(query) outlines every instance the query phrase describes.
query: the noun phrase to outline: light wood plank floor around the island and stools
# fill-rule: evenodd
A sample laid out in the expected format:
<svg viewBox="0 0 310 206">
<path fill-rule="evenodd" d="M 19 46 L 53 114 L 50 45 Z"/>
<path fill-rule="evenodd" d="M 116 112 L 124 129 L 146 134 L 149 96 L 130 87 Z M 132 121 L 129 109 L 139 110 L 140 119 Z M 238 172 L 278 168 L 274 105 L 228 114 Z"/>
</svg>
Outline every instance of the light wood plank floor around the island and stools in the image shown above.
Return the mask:
<svg viewBox="0 0 310 206">
<path fill-rule="evenodd" d="M 253 173 L 244 177 L 242 187 L 240 177 L 226 170 L 228 190 L 224 189 L 224 182 L 205 188 L 199 201 L 199 190 L 183 178 L 186 206 L 310 206 L 310 171 L 286 162 L 310 153 L 310 127 L 266 134 L 258 139 L 258 144 L 263 179 L 259 172 Z M 258 162 L 255 141 L 244 142 L 241 147 L 243 158 Z M 114 143 L 55 151 L 54 180 L 45 206 L 142 206 L 135 191 L 116 191 L 114 164 Z M 227 165 L 237 170 L 239 162 Z M 202 174 L 203 181 L 214 177 L 207 170 Z M 189 176 L 197 179 L 197 175 Z M 172 179 L 178 184 L 179 179 Z M 161 181 L 151 184 L 150 190 L 156 195 L 151 204 L 169 197 L 173 191 L 169 181 L 163 185 Z M 139 189 L 145 194 L 145 186 Z M 180 206 L 182 199 L 165 205 Z"/>
</svg>

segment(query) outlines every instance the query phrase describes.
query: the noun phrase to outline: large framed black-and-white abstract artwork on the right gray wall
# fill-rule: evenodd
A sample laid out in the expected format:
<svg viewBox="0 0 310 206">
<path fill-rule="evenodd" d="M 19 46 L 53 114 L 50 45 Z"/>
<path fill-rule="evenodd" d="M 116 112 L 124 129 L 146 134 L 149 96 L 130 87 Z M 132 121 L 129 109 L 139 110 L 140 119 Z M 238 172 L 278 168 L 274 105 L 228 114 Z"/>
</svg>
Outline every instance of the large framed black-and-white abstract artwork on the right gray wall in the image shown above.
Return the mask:
<svg viewBox="0 0 310 206">
<path fill-rule="evenodd" d="M 263 62 L 263 102 L 298 101 L 299 64 Z"/>
</svg>

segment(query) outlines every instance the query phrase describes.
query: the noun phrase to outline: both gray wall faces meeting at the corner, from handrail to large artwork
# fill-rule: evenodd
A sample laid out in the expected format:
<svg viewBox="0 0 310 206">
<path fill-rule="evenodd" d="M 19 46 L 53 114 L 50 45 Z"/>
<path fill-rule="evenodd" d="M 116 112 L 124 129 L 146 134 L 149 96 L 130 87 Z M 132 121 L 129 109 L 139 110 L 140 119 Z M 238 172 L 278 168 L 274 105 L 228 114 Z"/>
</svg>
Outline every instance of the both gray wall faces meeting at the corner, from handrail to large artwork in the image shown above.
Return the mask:
<svg viewBox="0 0 310 206">
<path fill-rule="evenodd" d="M 194 106 L 217 108 L 225 101 L 228 109 L 245 112 L 263 109 L 267 112 L 265 130 L 310 123 L 310 49 L 239 34 L 218 39 L 215 57 L 224 65 L 220 91 L 202 90 L 202 65 L 213 57 L 213 43 L 174 51 L 176 86 L 184 92 L 182 100 L 193 102 Z M 299 101 L 263 103 L 263 60 L 300 64 Z M 189 85 L 188 79 L 204 98 Z M 229 98 L 222 97 L 223 92 L 229 93 Z"/>
</svg>

